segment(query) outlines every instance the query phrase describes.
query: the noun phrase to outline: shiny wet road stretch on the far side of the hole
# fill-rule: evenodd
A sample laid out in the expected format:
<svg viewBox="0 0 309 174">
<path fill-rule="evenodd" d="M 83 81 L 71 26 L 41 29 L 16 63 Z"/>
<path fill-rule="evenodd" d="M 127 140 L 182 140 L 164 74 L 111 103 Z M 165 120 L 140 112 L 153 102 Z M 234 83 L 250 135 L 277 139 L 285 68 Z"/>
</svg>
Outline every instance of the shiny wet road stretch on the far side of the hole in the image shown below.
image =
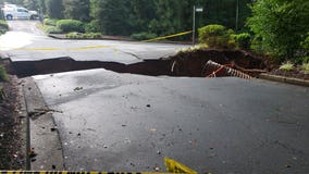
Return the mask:
<svg viewBox="0 0 309 174">
<path fill-rule="evenodd" d="M 59 40 L 45 36 L 36 21 L 9 21 L 11 30 L 0 37 L 0 51 L 12 61 L 71 57 L 76 61 L 106 61 L 131 64 L 147 59 L 166 58 L 189 47 L 114 40 Z"/>
</svg>

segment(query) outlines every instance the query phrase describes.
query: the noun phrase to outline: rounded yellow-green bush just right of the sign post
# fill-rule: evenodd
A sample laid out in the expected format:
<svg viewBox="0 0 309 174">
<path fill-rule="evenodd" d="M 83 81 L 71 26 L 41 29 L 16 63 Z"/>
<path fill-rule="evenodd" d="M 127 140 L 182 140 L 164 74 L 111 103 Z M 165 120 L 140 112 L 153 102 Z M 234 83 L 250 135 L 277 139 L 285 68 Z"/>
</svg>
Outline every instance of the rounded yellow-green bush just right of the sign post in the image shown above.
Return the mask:
<svg viewBox="0 0 309 174">
<path fill-rule="evenodd" d="M 222 25 L 207 25 L 198 29 L 198 39 L 200 44 L 207 44 L 210 48 L 233 48 L 234 40 L 231 35 L 232 29 L 226 29 Z"/>
</svg>

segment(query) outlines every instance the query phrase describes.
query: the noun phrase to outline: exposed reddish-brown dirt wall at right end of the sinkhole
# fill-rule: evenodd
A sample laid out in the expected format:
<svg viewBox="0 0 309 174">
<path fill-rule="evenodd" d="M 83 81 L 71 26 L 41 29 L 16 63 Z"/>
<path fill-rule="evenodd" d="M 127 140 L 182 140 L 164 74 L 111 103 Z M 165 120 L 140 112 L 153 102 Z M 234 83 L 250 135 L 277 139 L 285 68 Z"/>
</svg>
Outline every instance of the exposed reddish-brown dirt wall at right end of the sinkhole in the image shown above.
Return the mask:
<svg viewBox="0 0 309 174">
<path fill-rule="evenodd" d="M 215 71 L 215 69 L 207 66 L 209 60 L 252 76 L 268 70 L 265 62 L 260 57 L 240 50 L 196 50 L 181 52 L 171 57 L 171 60 L 173 74 L 177 76 L 207 77 Z M 224 72 L 219 72 L 217 76 L 226 75 Z"/>
</svg>

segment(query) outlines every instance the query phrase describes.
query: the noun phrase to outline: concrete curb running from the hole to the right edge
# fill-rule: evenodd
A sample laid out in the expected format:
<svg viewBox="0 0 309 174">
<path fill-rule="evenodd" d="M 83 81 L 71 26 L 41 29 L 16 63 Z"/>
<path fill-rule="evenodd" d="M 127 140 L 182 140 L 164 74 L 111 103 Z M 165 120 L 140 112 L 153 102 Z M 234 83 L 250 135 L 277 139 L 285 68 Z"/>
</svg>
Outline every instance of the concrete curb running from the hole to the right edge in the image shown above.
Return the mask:
<svg viewBox="0 0 309 174">
<path fill-rule="evenodd" d="M 291 78 L 291 77 L 284 77 L 284 76 L 279 76 L 279 75 L 271 75 L 271 74 L 267 74 L 267 73 L 260 74 L 259 78 L 309 87 L 309 80 L 306 80 L 306 79 Z"/>
</svg>

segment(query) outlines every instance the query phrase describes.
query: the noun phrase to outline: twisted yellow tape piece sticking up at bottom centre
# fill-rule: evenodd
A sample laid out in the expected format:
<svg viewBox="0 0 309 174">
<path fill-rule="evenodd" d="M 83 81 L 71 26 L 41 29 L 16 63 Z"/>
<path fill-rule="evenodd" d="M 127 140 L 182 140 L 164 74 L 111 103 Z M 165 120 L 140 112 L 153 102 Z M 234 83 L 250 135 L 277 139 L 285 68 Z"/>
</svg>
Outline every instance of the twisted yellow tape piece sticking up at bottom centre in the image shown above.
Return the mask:
<svg viewBox="0 0 309 174">
<path fill-rule="evenodd" d="M 187 167 L 186 165 L 178 163 L 172 159 L 164 158 L 164 163 L 166 166 L 166 171 L 171 173 L 187 173 L 187 174 L 197 174 L 196 171 Z"/>
</svg>

